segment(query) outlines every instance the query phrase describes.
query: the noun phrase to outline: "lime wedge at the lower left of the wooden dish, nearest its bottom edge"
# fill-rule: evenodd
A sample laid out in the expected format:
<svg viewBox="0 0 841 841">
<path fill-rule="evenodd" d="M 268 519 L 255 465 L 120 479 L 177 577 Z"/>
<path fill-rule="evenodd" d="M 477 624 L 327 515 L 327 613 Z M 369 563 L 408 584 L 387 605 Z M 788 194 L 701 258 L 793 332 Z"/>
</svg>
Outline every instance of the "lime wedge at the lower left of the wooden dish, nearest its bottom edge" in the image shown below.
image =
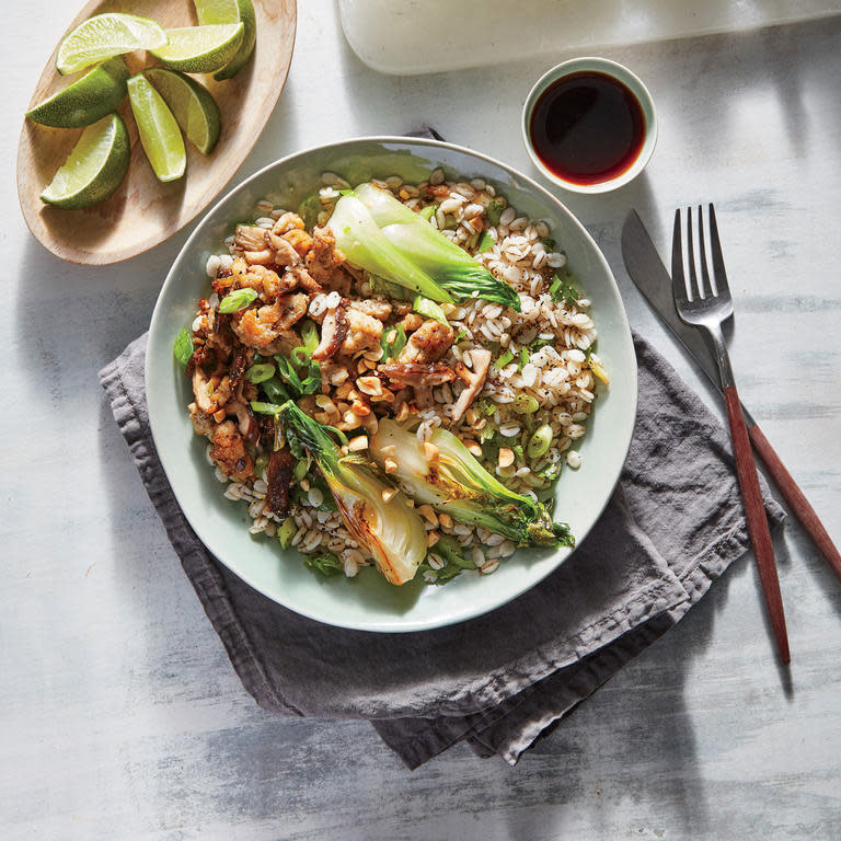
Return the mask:
<svg viewBox="0 0 841 841">
<path fill-rule="evenodd" d="M 131 149 L 126 124 L 111 114 L 82 131 L 42 201 L 71 209 L 104 201 L 120 185 Z"/>
</svg>

